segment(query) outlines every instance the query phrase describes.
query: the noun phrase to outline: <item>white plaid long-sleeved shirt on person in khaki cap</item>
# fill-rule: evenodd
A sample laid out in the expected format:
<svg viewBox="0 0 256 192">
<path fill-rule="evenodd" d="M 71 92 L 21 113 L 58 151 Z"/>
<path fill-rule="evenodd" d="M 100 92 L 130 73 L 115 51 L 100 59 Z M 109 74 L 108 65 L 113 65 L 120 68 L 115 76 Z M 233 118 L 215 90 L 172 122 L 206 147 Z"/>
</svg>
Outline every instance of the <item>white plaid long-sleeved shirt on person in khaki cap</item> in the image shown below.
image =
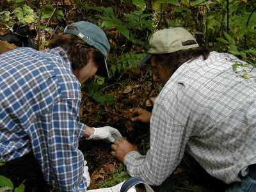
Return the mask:
<svg viewBox="0 0 256 192">
<path fill-rule="evenodd" d="M 227 184 L 239 181 L 239 172 L 256 163 L 255 69 L 246 80 L 243 67 L 233 72 L 236 61 L 211 52 L 205 61 L 198 58 L 178 68 L 154 104 L 147 156 L 130 152 L 124 158 L 131 176 L 159 185 L 185 150 Z"/>
</svg>

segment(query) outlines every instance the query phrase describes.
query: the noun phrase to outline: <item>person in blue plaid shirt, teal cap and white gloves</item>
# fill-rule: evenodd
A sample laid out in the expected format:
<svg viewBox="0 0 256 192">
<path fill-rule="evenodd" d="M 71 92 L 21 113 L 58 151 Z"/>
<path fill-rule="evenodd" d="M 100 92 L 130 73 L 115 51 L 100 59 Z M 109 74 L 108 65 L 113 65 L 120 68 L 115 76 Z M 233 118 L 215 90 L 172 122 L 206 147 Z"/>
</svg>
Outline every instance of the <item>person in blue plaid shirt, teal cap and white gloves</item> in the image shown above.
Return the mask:
<svg viewBox="0 0 256 192">
<path fill-rule="evenodd" d="M 0 54 L 0 161 L 33 152 L 56 191 L 86 191 L 90 176 L 79 139 L 113 142 L 122 136 L 113 127 L 79 121 L 81 84 L 94 74 L 109 77 L 110 45 L 98 26 L 80 21 L 49 47 Z"/>
</svg>

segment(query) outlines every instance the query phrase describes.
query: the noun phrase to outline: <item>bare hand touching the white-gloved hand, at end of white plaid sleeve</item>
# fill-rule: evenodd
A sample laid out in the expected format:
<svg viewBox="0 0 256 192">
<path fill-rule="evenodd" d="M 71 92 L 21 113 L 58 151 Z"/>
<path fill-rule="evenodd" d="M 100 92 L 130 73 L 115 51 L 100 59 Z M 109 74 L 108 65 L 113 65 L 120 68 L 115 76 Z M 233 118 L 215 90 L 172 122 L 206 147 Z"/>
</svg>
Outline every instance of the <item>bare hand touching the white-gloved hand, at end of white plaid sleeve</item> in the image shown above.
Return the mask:
<svg viewBox="0 0 256 192">
<path fill-rule="evenodd" d="M 113 152 L 111 152 L 111 155 L 116 157 L 121 162 L 124 162 L 124 157 L 126 154 L 128 154 L 131 151 L 138 151 L 138 148 L 135 145 L 132 145 L 127 140 L 119 140 L 115 141 L 114 144 L 111 145 L 111 148 L 113 149 Z"/>
</svg>

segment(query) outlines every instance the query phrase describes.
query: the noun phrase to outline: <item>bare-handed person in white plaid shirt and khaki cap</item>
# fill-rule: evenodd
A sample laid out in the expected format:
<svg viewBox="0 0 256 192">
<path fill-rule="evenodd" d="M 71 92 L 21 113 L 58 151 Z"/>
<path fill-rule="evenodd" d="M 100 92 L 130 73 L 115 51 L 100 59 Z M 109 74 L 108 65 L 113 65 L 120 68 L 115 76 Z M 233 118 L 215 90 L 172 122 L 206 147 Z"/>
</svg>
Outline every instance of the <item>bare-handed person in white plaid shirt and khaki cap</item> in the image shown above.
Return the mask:
<svg viewBox="0 0 256 192">
<path fill-rule="evenodd" d="M 164 84 L 152 114 L 132 113 L 132 121 L 150 122 L 150 149 L 141 156 L 126 140 L 111 154 L 131 176 L 159 186 L 188 152 L 227 191 L 256 191 L 256 83 L 252 65 L 232 54 L 200 48 L 184 28 L 156 31 L 147 56 Z M 244 71 L 247 70 L 247 76 Z M 246 78 L 244 78 L 246 77 Z"/>
</svg>

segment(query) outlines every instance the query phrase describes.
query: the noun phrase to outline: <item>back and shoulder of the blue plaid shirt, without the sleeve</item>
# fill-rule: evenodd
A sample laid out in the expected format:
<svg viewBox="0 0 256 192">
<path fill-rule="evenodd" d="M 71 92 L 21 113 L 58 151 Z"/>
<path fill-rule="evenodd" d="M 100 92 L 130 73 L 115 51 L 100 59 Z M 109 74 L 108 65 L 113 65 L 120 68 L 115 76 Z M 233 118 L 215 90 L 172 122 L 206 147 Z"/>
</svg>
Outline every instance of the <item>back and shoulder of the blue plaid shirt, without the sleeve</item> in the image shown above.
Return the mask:
<svg viewBox="0 0 256 192">
<path fill-rule="evenodd" d="M 77 86 L 74 90 L 79 90 L 79 83 L 70 77 L 70 67 L 61 65 L 58 52 L 22 47 L 0 55 L 0 161 L 15 159 L 31 150 L 31 125 L 56 102 L 67 98 L 64 79 L 69 87 Z M 77 92 L 72 97 L 79 99 L 81 95 Z"/>
</svg>

